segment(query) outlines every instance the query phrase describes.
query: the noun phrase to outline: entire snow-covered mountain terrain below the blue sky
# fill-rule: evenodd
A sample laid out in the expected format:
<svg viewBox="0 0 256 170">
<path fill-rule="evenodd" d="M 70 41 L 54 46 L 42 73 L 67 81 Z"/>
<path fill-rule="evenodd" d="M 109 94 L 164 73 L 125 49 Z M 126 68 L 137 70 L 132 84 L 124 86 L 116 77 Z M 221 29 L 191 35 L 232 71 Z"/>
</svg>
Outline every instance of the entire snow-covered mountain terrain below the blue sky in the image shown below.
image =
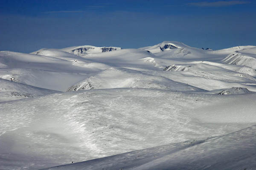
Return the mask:
<svg viewBox="0 0 256 170">
<path fill-rule="evenodd" d="M 255 59 L 175 41 L 0 51 L 0 169 L 256 169 Z"/>
</svg>

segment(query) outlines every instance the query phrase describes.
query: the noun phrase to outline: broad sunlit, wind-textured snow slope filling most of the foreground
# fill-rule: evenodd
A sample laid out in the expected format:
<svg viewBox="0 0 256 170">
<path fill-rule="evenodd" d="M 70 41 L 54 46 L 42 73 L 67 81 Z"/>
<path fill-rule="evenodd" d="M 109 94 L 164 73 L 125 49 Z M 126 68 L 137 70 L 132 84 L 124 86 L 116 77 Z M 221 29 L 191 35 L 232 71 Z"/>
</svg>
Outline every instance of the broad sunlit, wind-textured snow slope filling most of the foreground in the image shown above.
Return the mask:
<svg viewBox="0 0 256 170">
<path fill-rule="evenodd" d="M 0 103 L 0 169 L 39 169 L 256 124 L 256 94 L 108 89 Z"/>
</svg>

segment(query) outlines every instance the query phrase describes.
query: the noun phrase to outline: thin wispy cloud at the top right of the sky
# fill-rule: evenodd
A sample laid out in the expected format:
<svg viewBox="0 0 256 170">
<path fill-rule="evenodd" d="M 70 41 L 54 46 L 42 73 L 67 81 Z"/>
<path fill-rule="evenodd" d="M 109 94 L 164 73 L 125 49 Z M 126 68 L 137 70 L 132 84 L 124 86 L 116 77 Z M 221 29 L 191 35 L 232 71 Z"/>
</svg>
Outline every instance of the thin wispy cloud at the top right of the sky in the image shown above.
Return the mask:
<svg viewBox="0 0 256 170">
<path fill-rule="evenodd" d="M 249 1 L 243 0 L 231 0 L 231 1 L 215 1 L 215 2 L 198 2 L 198 3 L 188 3 L 191 6 L 201 6 L 201 7 L 221 7 L 221 6 L 233 6 L 250 3 Z"/>
</svg>

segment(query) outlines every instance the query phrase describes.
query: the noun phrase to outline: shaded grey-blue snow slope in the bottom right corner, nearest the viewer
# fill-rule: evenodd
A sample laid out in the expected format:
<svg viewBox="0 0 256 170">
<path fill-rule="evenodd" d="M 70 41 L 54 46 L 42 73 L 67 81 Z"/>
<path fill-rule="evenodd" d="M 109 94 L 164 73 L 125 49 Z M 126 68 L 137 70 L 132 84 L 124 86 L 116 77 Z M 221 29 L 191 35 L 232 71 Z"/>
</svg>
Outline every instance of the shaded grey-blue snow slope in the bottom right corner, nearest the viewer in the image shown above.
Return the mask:
<svg viewBox="0 0 256 170">
<path fill-rule="evenodd" d="M 45 170 L 253 170 L 256 126 Z M 113 164 L 113 162 L 115 162 Z"/>
</svg>

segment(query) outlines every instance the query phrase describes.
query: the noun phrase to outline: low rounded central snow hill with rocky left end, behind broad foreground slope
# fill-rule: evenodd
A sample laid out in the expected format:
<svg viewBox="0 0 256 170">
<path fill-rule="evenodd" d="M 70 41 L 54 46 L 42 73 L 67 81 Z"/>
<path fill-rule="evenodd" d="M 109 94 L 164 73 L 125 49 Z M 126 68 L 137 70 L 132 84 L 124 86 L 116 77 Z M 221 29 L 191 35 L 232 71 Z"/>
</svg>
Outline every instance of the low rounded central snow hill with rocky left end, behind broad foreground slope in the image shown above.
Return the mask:
<svg viewBox="0 0 256 170">
<path fill-rule="evenodd" d="M 109 68 L 99 74 L 93 75 L 67 89 L 79 91 L 106 88 L 155 88 L 172 91 L 204 91 L 170 79 L 143 74 L 127 68 Z"/>
</svg>

